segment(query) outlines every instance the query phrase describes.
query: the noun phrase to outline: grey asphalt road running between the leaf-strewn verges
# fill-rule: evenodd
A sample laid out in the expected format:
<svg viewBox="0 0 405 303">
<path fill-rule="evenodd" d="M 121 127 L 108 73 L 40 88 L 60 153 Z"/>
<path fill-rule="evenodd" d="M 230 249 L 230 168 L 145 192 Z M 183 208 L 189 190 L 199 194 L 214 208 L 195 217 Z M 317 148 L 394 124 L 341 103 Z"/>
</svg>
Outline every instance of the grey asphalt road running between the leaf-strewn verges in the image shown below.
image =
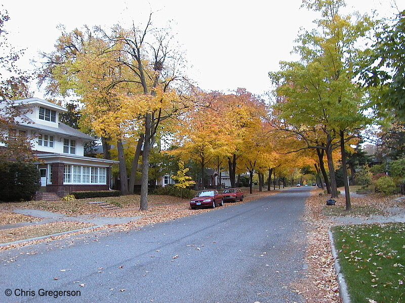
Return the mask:
<svg viewBox="0 0 405 303">
<path fill-rule="evenodd" d="M 0 252 L 0 302 L 302 302 L 309 189 Z"/>
</svg>

